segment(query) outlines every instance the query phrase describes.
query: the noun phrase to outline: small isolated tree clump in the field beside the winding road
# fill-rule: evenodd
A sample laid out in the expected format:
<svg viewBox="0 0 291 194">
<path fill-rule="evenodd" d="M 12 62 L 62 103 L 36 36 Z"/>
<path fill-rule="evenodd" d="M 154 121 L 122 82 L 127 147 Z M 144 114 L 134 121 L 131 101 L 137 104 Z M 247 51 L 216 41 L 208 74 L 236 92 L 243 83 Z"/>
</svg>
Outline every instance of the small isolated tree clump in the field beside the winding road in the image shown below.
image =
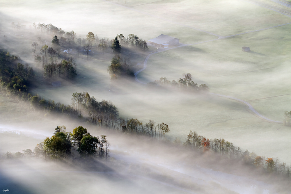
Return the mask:
<svg viewBox="0 0 291 194">
<path fill-rule="evenodd" d="M 184 78 L 180 78 L 179 80 L 169 81 L 166 77 L 161 77 L 159 80 L 155 80 L 154 82 L 148 83 L 149 86 L 173 86 L 182 89 L 187 89 L 189 91 L 202 91 L 208 92 L 209 88 L 206 84 L 201 84 L 198 86 L 197 83 L 194 83 L 192 80 L 192 76 L 190 73 L 185 74 Z"/>
</svg>

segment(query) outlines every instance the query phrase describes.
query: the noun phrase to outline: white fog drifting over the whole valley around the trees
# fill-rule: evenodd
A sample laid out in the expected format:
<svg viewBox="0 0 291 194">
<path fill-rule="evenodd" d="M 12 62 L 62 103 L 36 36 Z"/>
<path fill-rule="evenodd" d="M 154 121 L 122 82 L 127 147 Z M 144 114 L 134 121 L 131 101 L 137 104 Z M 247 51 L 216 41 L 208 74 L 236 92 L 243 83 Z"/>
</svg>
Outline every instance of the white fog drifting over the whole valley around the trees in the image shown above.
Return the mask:
<svg viewBox="0 0 291 194">
<path fill-rule="evenodd" d="M 280 183 L 271 183 L 265 175 L 242 163 L 224 159 L 215 163 L 215 155 L 193 153 L 182 143 L 191 130 L 208 139 L 224 138 L 243 152 L 247 149 L 258 156 L 278 157 L 280 163 L 291 163 L 291 130 L 278 123 L 283 122 L 284 111 L 291 111 L 290 17 L 290 8 L 269 0 L 0 2 L 0 49 L 18 55 L 23 65 L 33 67 L 37 81 L 29 86 L 32 95 L 71 104 L 74 92 L 85 91 L 97 102 L 111 100 L 122 118 L 137 118 L 143 124 L 154 120 L 170 127 L 164 140 L 152 140 L 39 110 L 29 102 L 1 95 L 0 155 L 33 150 L 61 125 L 67 131 L 81 125 L 95 136 L 106 134 L 111 143 L 107 162 L 78 158 L 77 151 L 73 152 L 72 161 L 3 159 L 1 190 L 11 188 L 12 193 L 287 192 L 288 185 L 285 188 Z M 19 29 L 15 27 L 17 22 L 21 25 Z M 31 44 L 39 43 L 37 55 L 43 45 L 52 45 L 55 34 L 41 32 L 33 23 L 52 24 L 65 32 L 74 30 L 76 39 L 80 37 L 82 41 L 88 32 L 96 34 L 99 40 L 134 34 L 148 41 L 165 34 L 178 38 L 180 44 L 168 49 L 149 45 L 146 52 L 122 47 L 121 55 L 129 58 L 129 68 L 134 73 L 143 70 L 136 77 L 117 80 L 110 79 L 107 72 L 114 56 L 112 49 L 106 49 L 103 54 L 96 44 L 87 60 L 85 52 L 77 54 L 72 46 L 72 53 L 61 54 L 74 58 L 77 76 L 45 78 L 42 65 L 34 60 Z M 244 46 L 250 47 L 250 51 L 243 52 Z M 68 43 L 62 49 L 69 49 Z M 212 94 L 146 84 L 160 77 L 178 81 L 186 73 L 198 85 L 206 84 Z M 61 86 L 53 87 L 54 81 L 60 81 Z M 260 117 L 242 102 L 218 95 L 246 101 L 263 117 L 278 122 Z M 88 114 L 82 113 L 86 118 Z M 176 138 L 180 138 L 181 145 L 173 144 Z"/>
</svg>

